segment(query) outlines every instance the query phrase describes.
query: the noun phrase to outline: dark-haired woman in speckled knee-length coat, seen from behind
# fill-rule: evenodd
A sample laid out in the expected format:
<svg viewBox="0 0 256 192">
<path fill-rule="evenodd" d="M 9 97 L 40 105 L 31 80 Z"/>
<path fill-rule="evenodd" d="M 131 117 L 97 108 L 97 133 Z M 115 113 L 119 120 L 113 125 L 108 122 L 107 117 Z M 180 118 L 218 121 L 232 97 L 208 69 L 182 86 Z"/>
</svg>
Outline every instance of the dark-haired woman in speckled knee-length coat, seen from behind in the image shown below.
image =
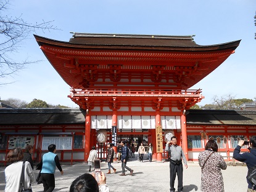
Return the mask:
<svg viewBox="0 0 256 192">
<path fill-rule="evenodd" d="M 224 191 L 221 169 L 226 169 L 226 162 L 217 152 L 217 143 L 210 139 L 205 145 L 205 150 L 199 153 L 198 161 L 202 171 L 201 191 L 203 192 Z"/>
</svg>

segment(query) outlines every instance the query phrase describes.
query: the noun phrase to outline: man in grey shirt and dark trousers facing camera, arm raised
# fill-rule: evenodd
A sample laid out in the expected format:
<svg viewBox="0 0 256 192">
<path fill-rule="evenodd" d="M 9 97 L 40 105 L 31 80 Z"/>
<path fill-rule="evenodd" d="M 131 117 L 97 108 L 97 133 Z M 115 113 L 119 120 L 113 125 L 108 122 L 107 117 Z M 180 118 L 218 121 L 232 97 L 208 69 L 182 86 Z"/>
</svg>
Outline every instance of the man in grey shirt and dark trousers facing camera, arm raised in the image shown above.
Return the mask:
<svg viewBox="0 0 256 192">
<path fill-rule="evenodd" d="M 169 146 L 171 143 L 171 146 Z M 165 151 L 170 154 L 170 191 L 174 192 L 174 182 L 176 174 L 178 175 L 178 192 L 183 191 L 183 164 L 186 169 L 188 168 L 186 157 L 183 153 L 181 146 L 177 145 L 177 138 L 175 136 L 171 137 L 171 141 L 167 142 L 165 145 Z"/>
</svg>

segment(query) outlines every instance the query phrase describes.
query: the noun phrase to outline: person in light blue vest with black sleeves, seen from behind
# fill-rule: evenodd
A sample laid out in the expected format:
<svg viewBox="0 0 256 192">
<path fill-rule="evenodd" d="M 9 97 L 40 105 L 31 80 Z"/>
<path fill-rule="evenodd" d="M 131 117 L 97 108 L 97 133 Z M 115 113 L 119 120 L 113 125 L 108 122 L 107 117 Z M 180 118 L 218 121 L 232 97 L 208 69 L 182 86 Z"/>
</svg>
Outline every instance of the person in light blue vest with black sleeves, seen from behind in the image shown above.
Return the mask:
<svg viewBox="0 0 256 192">
<path fill-rule="evenodd" d="M 51 192 L 55 188 L 55 170 L 56 166 L 60 171 L 60 174 L 64 174 L 60 162 L 59 157 L 56 153 L 56 145 L 51 144 L 48 146 L 48 153 L 43 155 L 43 158 L 41 159 L 41 162 L 39 164 L 42 164 L 41 169 L 41 179 L 44 186 L 44 192 Z"/>
</svg>

